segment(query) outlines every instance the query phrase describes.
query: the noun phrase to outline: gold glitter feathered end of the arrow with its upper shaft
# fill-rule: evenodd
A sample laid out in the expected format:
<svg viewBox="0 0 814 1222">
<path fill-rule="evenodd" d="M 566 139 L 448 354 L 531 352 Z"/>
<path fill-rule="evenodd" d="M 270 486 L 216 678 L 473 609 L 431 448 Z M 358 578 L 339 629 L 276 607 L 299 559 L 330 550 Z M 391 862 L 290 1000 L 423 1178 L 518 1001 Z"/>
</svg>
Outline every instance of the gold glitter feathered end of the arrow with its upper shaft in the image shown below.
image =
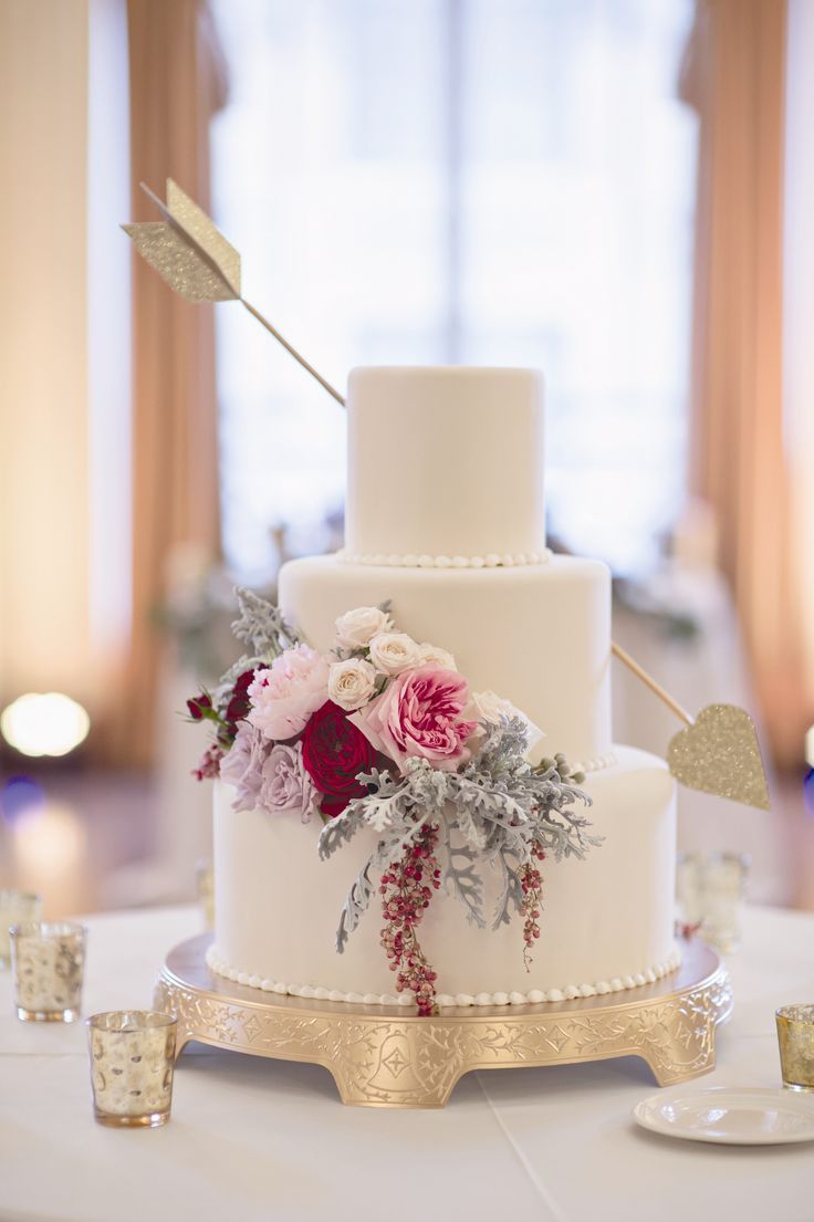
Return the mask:
<svg viewBox="0 0 814 1222">
<path fill-rule="evenodd" d="M 345 407 L 340 392 L 241 296 L 241 257 L 211 218 L 172 178 L 166 180 L 166 204 L 144 183 L 141 186 L 164 220 L 139 221 L 122 229 L 170 288 L 194 303 L 238 301 Z"/>
</svg>

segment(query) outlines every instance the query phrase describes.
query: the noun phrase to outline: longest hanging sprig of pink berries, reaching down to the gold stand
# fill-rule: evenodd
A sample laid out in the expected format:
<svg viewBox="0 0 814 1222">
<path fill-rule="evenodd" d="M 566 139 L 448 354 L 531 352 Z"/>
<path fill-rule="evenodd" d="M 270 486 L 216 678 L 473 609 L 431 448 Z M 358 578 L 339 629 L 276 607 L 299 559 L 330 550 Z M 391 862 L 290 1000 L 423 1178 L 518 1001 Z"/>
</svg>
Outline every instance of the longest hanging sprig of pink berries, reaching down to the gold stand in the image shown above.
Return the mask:
<svg viewBox="0 0 814 1222">
<path fill-rule="evenodd" d="M 396 992 L 412 990 L 422 1018 L 438 1014 L 438 973 L 428 962 L 416 934 L 433 892 L 441 886 L 436 846 L 438 827 L 425 824 L 413 843 L 405 848 L 401 860 L 387 866 L 379 885 L 385 919 L 381 945 L 390 970 L 397 973 Z"/>
</svg>

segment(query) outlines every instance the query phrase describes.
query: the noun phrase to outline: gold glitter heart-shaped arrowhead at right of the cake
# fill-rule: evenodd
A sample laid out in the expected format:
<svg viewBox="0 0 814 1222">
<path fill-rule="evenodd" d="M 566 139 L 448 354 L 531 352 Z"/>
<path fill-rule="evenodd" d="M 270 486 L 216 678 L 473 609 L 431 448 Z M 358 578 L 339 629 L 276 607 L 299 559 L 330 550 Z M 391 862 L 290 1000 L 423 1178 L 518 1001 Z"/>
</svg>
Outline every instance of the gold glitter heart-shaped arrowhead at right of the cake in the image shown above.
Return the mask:
<svg viewBox="0 0 814 1222">
<path fill-rule="evenodd" d="M 670 771 L 691 789 L 770 809 L 754 722 L 732 704 L 711 704 L 667 748 Z"/>
</svg>

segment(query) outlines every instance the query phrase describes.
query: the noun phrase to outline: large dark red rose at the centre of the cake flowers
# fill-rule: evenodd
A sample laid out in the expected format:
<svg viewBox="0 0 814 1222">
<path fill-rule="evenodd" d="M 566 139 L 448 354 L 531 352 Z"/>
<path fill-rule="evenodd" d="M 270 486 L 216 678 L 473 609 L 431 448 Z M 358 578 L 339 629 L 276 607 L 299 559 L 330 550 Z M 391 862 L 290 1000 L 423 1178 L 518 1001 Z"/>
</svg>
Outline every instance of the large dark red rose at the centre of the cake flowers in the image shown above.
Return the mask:
<svg viewBox="0 0 814 1222">
<path fill-rule="evenodd" d="M 302 732 L 302 763 L 323 794 L 323 814 L 340 815 L 352 798 L 361 798 L 364 786 L 356 778 L 375 761 L 375 749 L 332 700 L 310 715 Z"/>
</svg>

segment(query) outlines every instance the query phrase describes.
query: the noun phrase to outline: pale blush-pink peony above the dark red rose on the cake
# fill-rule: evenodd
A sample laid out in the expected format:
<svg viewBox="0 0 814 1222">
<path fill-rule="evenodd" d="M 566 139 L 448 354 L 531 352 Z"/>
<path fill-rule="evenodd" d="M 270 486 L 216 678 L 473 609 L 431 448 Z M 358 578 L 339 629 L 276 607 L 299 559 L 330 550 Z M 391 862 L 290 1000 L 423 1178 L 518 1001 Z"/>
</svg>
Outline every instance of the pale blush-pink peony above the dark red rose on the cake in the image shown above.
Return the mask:
<svg viewBox="0 0 814 1222">
<path fill-rule="evenodd" d="M 269 670 L 254 672 L 248 695 L 248 721 L 273 742 L 285 742 L 328 700 L 328 662 L 308 645 L 295 645 Z"/>
</svg>

